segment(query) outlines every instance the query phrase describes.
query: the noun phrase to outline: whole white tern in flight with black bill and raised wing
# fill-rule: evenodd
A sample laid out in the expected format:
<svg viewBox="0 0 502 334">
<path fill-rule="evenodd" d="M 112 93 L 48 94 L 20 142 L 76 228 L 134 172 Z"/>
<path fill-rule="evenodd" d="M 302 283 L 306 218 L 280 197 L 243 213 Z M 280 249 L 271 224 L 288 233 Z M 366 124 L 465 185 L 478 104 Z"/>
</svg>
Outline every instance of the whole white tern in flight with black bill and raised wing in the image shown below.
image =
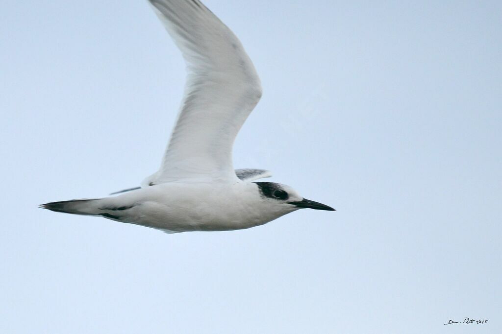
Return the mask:
<svg viewBox="0 0 502 334">
<path fill-rule="evenodd" d="M 233 141 L 262 96 L 255 67 L 230 29 L 199 0 L 149 2 L 188 69 L 159 171 L 118 196 L 41 207 L 167 233 L 246 229 L 301 208 L 334 211 L 289 186 L 251 182 L 270 177 L 268 171 L 233 170 Z"/>
</svg>

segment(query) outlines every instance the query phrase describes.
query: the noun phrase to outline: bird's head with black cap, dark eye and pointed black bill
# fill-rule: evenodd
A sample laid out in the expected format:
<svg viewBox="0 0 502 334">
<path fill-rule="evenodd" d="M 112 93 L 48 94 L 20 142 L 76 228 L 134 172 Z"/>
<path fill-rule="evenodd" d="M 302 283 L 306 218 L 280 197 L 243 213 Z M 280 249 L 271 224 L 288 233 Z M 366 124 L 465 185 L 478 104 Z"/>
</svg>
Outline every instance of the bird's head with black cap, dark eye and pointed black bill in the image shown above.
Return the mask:
<svg viewBox="0 0 502 334">
<path fill-rule="evenodd" d="M 267 202 L 280 204 L 285 210 L 294 211 L 297 209 L 315 209 L 335 211 L 327 205 L 307 200 L 300 196 L 296 190 L 290 186 L 274 182 L 255 182 L 260 191 L 260 196 Z"/>
</svg>

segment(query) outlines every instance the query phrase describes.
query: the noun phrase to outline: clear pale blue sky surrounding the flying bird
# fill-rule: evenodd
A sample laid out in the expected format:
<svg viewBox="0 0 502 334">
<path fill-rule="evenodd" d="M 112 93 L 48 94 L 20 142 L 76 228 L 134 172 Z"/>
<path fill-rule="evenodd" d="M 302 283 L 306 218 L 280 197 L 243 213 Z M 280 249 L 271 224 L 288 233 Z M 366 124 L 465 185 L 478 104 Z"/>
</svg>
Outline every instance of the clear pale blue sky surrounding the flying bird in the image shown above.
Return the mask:
<svg viewBox="0 0 502 334">
<path fill-rule="evenodd" d="M 337 212 L 167 235 L 38 209 L 154 172 L 184 65 L 146 1 L 4 0 L 0 332 L 500 332 L 501 3 L 205 4 L 263 82 L 235 167 Z"/>
</svg>

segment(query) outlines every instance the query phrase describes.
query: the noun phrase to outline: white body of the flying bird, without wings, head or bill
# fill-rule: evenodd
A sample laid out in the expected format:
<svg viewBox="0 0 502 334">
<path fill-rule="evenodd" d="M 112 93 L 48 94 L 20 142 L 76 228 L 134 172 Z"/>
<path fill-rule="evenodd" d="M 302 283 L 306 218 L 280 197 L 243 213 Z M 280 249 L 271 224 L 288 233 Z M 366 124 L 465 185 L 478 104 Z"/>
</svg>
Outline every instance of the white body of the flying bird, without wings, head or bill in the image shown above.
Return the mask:
<svg viewBox="0 0 502 334">
<path fill-rule="evenodd" d="M 297 198 L 301 200 L 301 198 Z M 60 202 L 87 214 L 148 226 L 168 233 L 225 231 L 265 224 L 298 210 L 270 203 L 256 183 L 164 183 L 116 197 Z M 67 210 L 67 209 L 65 209 Z"/>
</svg>

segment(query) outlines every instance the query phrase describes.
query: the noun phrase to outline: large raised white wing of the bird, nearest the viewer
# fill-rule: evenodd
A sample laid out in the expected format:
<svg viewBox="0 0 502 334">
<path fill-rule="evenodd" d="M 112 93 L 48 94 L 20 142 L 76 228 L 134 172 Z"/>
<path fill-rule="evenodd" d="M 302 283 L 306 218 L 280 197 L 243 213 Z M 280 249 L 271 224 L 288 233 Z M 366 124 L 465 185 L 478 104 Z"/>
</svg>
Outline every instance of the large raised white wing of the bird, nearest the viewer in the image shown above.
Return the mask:
<svg viewBox="0 0 502 334">
<path fill-rule="evenodd" d="M 232 145 L 262 94 L 235 35 L 198 0 L 149 0 L 187 64 L 185 94 L 162 164 L 143 186 L 232 180 Z"/>
</svg>

